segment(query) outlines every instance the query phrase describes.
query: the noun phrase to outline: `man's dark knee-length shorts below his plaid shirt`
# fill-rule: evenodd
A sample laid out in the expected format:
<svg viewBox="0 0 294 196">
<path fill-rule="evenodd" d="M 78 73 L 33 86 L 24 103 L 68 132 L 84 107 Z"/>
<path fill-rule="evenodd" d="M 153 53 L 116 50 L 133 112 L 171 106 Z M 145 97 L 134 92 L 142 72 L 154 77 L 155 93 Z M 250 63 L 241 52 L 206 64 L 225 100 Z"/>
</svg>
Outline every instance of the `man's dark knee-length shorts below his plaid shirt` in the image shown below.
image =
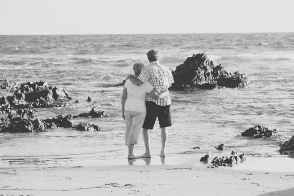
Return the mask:
<svg viewBox="0 0 294 196">
<path fill-rule="evenodd" d="M 172 126 L 170 106 L 171 105 L 161 106 L 153 101 L 146 101 L 147 114 L 143 128 L 153 129 L 156 117 L 158 118 L 160 128 Z"/>
</svg>

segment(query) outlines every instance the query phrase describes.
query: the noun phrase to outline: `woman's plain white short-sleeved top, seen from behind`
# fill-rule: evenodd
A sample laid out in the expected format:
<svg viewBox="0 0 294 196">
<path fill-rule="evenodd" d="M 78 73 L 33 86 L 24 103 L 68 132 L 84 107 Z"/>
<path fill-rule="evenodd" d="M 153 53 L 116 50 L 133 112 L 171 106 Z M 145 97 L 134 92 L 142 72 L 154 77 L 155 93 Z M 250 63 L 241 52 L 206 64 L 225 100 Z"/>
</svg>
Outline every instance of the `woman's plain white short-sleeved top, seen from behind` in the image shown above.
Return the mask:
<svg viewBox="0 0 294 196">
<path fill-rule="evenodd" d="M 124 109 L 134 112 L 146 112 L 146 96 L 147 93 L 153 90 L 153 86 L 148 81 L 136 86 L 128 79 L 125 81 L 124 87 L 127 91 Z"/>
</svg>

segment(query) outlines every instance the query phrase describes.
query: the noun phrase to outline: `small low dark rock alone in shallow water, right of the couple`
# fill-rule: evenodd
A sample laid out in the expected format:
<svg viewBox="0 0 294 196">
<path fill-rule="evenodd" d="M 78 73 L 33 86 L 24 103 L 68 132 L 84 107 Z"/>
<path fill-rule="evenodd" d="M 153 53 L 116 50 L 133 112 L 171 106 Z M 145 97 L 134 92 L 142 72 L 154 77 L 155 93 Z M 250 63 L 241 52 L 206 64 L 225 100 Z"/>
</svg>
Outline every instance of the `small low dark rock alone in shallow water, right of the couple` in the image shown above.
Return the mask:
<svg viewBox="0 0 294 196">
<path fill-rule="evenodd" d="M 254 138 L 268 138 L 272 136 L 276 136 L 276 129 L 270 130 L 268 127 L 264 127 L 262 125 L 256 125 L 245 130 L 241 135 L 242 136 L 253 136 Z"/>
</svg>

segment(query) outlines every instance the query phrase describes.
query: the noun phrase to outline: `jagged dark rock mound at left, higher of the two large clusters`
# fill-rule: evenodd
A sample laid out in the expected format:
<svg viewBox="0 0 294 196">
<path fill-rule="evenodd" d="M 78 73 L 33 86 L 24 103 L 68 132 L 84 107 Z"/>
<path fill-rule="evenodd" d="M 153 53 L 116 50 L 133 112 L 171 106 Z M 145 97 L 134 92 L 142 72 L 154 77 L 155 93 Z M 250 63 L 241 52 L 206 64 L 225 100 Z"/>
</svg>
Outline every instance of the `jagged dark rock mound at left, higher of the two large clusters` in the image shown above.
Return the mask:
<svg viewBox="0 0 294 196">
<path fill-rule="evenodd" d="M 8 96 L 7 100 L 14 108 L 45 108 L 65 106 L 64 100 L 71 99 L 70 94 L 59 87 L 50 87 L 47 82 L 27 82 Z"/>
</svg>

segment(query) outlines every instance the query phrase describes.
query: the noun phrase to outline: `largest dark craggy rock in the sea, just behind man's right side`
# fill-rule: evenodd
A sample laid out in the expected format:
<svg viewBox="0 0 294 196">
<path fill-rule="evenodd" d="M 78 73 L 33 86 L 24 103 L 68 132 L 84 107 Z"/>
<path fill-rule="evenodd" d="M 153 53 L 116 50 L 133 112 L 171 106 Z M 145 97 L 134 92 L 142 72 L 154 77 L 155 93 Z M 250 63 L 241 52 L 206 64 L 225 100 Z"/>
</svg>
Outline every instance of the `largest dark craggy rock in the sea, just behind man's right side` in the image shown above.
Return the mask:
<svg viewBox="0 0 294 196">
<path fill-rule="evenodd" d="M 239 72 L 229 73 L 224 67 L 215 65 L 205 53 L 193 54 L 172 71 L 172 89 L 197 87 L 201 89 L 248 88 L 248 78 Z"/>
</svg>

